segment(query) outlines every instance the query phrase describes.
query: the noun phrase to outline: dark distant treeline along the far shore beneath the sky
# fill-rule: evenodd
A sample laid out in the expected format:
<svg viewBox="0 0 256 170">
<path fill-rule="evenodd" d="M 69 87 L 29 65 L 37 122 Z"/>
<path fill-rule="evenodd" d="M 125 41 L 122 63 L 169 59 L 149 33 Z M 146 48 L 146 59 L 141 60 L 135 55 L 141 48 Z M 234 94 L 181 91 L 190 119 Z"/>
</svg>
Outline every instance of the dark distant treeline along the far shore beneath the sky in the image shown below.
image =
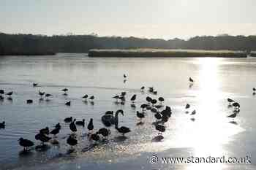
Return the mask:
<svg viewBox="0 0 256 170">
<path fill-rule="evenodd" d="M 32 35 L 0 33 L 0 55 L 88 53 L 90 49 L 256 50 L 256 36 L 195 36 L 183 39 L 142 39 L 133 36 Z"/>
</svg>

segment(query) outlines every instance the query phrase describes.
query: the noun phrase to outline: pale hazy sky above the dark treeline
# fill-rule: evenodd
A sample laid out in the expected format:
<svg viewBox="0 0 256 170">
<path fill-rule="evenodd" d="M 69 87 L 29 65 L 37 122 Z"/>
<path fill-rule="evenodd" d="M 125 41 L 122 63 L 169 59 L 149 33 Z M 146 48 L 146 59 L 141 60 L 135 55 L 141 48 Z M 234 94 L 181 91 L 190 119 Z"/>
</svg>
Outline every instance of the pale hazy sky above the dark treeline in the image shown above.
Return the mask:
<svg viewBox="0 0 256 170">
<path fill-rule="evenodd" d="M 160 39 L 255 35 L 256 0 L 0 0 L 0 31 Z"/>
</svg>

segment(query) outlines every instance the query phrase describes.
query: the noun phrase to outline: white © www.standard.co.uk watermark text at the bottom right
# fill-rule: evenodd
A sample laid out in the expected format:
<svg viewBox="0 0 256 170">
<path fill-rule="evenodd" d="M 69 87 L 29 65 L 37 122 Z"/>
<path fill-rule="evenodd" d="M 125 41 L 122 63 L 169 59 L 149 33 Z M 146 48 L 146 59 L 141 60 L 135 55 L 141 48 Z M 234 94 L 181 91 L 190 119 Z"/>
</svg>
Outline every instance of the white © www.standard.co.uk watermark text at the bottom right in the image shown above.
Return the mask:
<svg viewBox="0 0 256 170">
<path fill-rule="evenodd" d="M 249 155 L 246 155 L 245 157 L 236 158 L 236 157 L 225 157 L 223 155 L 222 157 L 194 157 L 193 155 L 190 155 L 187 158 L 183 157 L 162 157 L 159 158 L 157 155 L 152 155 L 150 158 L 148 158 L 149 163 L 151 164 L 157 164 L 157 163 L 163 163 L 163 164 L 176 164 L 176 163 L 239 163 L 239 164 L 250 164 L 251 157 Z"/>
</svg>

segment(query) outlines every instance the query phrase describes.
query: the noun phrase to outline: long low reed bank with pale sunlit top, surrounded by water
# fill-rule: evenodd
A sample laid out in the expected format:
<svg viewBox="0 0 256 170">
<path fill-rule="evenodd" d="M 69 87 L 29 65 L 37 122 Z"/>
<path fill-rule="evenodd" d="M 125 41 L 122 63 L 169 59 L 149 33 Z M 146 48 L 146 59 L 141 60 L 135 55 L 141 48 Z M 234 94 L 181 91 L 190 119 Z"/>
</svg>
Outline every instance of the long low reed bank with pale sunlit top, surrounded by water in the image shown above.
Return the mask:
<svg viewBox="0 0 256 170">
<path fill-rule="evenodd" d="M 89 57 L 217 57 L 217 58 L 246 58 L 246 53 L 231 50 L 159 50 L 159 49 L 135 49 L 135 50 L 89 50 Z"/>
</svg>

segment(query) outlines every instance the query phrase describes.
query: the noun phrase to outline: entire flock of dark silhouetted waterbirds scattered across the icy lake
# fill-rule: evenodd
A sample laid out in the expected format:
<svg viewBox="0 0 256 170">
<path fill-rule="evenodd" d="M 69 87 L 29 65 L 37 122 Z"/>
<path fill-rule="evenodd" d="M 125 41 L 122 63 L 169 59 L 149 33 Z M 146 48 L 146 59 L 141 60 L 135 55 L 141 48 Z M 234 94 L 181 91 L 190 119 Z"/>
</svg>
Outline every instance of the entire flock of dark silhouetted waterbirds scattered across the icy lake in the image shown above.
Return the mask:
<svg viewBox="0 0 256 170">
<path fill-rule="evenodd" d="M 124 74 L 124 80 L 127 79 L 127 75 Z M 193 84 L 195 81 L 192 80 L 191 77 L 189 77 L 189 87 L 191 87 L 191 84 Z M 33 83 L 33 87 L 37 87 L 38 83 Z M 69 89 L 64 88 L 61 91 L 63 91 L 63 95 L 67 96 Z M 140 91 L 142 93 L 145 93 L 146 88 L 145 86 L 140 88 Z M 148 93 L 157 95 L 157 90 L 154 89 L 153 87 L 148 88 Z M 255 94 L 256 89 L 253 88 L 253 94 Z M 0 90 L 0 100 L 4 100 L 4 95 L 7 96 L 7 98 L 11 98 L 13 92 L 8 92 L 5 93 L 4 90 Z M 39 90 L 39 99 L 40 100 L 50 100 L 50 97 L 53 97 L 52 94 L 50 93 L 45 93 Z M 81 97 L 83 101 L 94 101 L 94 96 L 88 96 L 87 94 Z M 117 103 L 124 104 L 127 100 L 127 92 L 121 92 L 121 94 L 118 94 L 116 96 L 113 96 L 113 98 L 116 99 Z M 134 94 L 132 97 L 129 99 L 129 101 L 132 103 L 131 107 L 136 108 L 135 102 L 136 102 L 137 95 Z M 165 98 L 159 97 L 159 98 L 151 98 L 150 96 L 146 97 L 145 103 L 140 105 L 140 109 L 136 111 L 136 116 L 138 117 L 138 123 L 137 125 L 143 125 L 144 124 L 144 119 L 146 118 L 147 114 L 146 112 L 150 111 L 154 114 L 155 120 L 152 123 L 153 127 L 155 130 L 158 132 L 157 136 L 152 139 L 152 142 L 161 142 L 162 139 L 164 139 L 163 133 L 165 132 L 165 129 L 167 128 L 165 123 L 170 119 L 171 115 L 173 114 L 172 109 L 169 106 L 164 105 Z M 233 107 L 233 114 L 228 115 L 228 118 L 234 118 L 238 115 L 240 112 L 240 104 L 238 104 L 237 101 L 234 101 L 231 98 L 227 98 L 228 102 L 228 107 Z M 26 100 L 27 104 L 33 103 L 32 99 Z M 67 106 L 71 106 L 71 101 L 67 101 L 65 103 Z M 185 113 L 189 114 L 189 109 L 191 108 L 190 104 L 186 104 L 184 107 Z M 89 123 L 87 125 L 87 137 L 89 141 L 92 144 L 99 144 L 99 142 L 105 142 L 108 141 L 108 136 L 111 134 L 111 131 L 116 130 L 119 134 L 121 134 L 124 139 L 127 137 L 125 136 L 129 132 L 131 132 L 131 129 L 126 126 L 119 126 L 119 120 L 118 116 L 119 115 L 124 116 L 124 110 L 118 109 L 115 112 L 114 111 L 106 111 L 104 115 L 101 117 L 102 121 L 102 127 L 99 129 L 95 130 L 94 129 L 94 120 L 93 118 L 89 119 Z M 191 120 L 195 121 L 195 115 L 196 115 L 196 110 L 193 109 L 192 112 L 190 112 Z M 69 129 L 71 131 L 71 134 L 67 136 L 67 144 L 70 145 L 70 150 L 75 150 L 74 146 L 79 143 L 77 139 L 77 131 L 78 131 L 78 126 L 81 128 L 85 128 L 86 125 L 86 120 L 76 120 L 75 117 L 66 117 L 64 118 L 64 123 L 69 123 Z M 235 121 L 232 121 L 233 123 Z M 0 123 L 0 128 L 4 129 L 6 124 L 3 121 Z M 114 129 L 113 129 L 113 128 Z M 36 149 L 41 149 L 42 147 L 45 147 L 45 143 L 50 142 L 51 144 L 59 144 L 58 140 L 58 134 L 61 132 L 61 123 L 56 123 L 54 125 L 54 128 L 50 131 L 48 127 L 39 129 L 38 133 L 35 135 L 35 139 L 40 142 L 39 145 L 37 145 Z M 34 142 L 32 142 L 29 139 L 23 139 L 23 137 L 20 137 L 18 139 L 19 144 L 21 147 L 23 147 L 24 152 L 30 151 L 30 147 L 34 146 Z"/>
</svg>

